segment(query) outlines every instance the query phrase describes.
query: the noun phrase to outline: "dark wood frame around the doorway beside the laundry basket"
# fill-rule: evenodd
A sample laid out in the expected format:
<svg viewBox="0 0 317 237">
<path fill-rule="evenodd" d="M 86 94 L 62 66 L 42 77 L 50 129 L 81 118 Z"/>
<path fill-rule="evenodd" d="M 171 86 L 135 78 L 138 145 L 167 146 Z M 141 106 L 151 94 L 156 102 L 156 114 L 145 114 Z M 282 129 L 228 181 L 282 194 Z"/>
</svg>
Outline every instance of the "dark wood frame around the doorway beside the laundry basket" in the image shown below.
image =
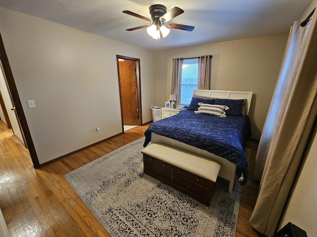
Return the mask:
<svg viewBox="0 0 317 237">
<path fill-rule="evenodd" d="M 120 83 L 120 73 L 119 73 L 119 59 L 130 60 L 130 61 L 135 62 L 137 110 L 138 110 L 138 124 L 139 125 L 143 125 L 143 123 L 142 123 L 142 99 L 141 99 L 141 69 L 140 69 L 140 59 L 122 56 L 122 55 L 116 55 L 118 81 L 119 81 L 120 107 L 121 107 L 121 121 L 122 121 L 122 131 L 123 131 L 124 129 L 123 129 L 122 96 L 121 96 L 121 83 Z"/>
</svg>

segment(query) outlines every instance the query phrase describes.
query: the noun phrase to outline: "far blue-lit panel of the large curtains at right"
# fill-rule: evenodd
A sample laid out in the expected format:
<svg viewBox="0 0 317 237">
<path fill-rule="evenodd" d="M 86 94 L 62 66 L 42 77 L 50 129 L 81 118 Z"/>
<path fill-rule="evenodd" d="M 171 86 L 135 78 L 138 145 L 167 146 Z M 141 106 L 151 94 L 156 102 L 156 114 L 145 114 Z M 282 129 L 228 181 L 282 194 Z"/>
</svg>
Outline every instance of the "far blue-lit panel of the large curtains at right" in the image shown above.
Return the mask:
<svg viewBox="0 0 317 237">
<path fill-rule="evenodd" d="M 261 180 L 273 134 L 278 132 L 279 123 L 282 121 L 286 110 L 285 103 L 292 96 L 292 87 L 297 78 L 296 73 L 301 66 L 301 59 L 308 38 L 305 37 L 307 27 L 300 27 L 300 23 L 301 21 L 295 22 L 288 38 L 281 72 L 261 134 L 256 164 L 252 175 L 254 180 Z"/>
</svg>

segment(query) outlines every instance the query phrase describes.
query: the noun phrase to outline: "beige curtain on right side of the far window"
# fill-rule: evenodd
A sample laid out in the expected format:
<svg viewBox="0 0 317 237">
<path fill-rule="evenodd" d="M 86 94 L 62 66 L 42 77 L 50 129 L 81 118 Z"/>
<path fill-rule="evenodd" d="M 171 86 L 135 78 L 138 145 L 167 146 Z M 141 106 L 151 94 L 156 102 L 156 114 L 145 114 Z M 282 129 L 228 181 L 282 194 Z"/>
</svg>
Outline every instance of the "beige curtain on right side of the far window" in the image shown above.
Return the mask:
<svg viewBox="0 0 317 237">
<path fill-rule="evenodd" d="M 198 59 L 198 88 L 210 89 L 211 55 L 200 56 Z"/>
</svg>

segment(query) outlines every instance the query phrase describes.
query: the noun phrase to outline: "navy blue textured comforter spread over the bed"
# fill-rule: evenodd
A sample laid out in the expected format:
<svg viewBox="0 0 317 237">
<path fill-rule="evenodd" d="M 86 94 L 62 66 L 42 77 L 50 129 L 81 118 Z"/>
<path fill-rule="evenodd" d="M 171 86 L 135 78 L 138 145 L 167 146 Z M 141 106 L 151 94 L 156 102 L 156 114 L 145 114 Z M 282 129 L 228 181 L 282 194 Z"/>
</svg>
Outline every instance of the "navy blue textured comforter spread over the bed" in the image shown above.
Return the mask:
<svg viewBox="0 0 317 237">
<path fill-rule="evenodd" d="M 248 163 L 244 146 L 251 136 L 248 116 L 219 118 L 184 110 L 177 115 L 152 123 L 144 133 L 144 147 L 151 141 L 151 132 L 228 159 L 237 165 L 237 176 L 244 177 L 244 180 L 239 181 L 240 185 L 246 184 Z"/>
</svg>

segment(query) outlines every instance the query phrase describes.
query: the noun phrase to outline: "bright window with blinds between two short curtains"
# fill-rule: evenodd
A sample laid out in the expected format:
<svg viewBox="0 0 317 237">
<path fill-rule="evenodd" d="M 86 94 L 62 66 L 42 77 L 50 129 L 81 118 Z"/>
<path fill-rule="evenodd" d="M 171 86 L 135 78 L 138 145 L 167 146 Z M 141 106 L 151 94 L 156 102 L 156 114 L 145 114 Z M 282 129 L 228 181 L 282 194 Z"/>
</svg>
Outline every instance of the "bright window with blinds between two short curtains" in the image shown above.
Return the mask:
<svg viewBox="0 0 317 237">
<path fill-rule="evenodd" d="M 198 85 L 198 58 L 183 59 L 182 79 L 181 79 L 181 97 L 182 105 L 189 105 L 193 91 Z"/>
</svg>

